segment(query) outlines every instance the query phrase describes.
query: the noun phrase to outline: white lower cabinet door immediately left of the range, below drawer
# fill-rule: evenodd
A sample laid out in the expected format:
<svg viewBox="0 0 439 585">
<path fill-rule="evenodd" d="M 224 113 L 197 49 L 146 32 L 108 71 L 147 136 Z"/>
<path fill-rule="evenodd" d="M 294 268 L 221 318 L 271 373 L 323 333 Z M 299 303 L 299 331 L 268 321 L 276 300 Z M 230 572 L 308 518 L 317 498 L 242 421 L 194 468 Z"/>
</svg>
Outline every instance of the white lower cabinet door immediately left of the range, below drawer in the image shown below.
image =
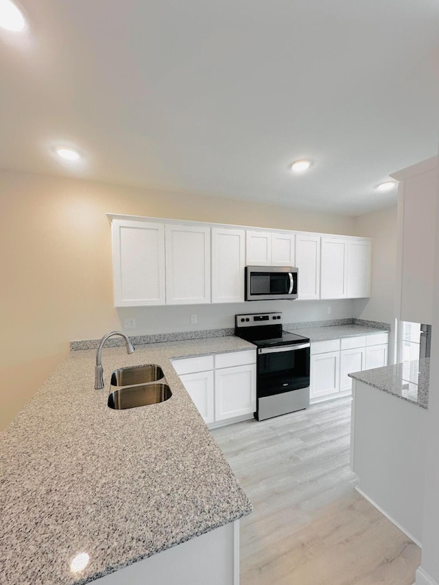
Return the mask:
<svg viewBox="0 0 439 585">
<path fill-rule="evenodd" d="M 256 365 L 215 370 L 215 420 L 256 411 Z"/>
</svg>

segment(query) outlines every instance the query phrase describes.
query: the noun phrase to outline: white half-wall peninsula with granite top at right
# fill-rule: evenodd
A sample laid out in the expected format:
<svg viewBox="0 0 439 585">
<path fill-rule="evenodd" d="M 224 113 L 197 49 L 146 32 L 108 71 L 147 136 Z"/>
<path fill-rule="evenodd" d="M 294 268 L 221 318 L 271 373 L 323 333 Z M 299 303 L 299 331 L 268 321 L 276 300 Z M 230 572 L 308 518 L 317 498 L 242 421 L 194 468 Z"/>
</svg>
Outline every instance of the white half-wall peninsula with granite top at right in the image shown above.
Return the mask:
<svg viewBox="0 0 439 585">
<path fill-rule="evenodd" d="M 419 546 L 423 535 L 429 358 L 349 374 L 358 491 Z"/>
</svg>

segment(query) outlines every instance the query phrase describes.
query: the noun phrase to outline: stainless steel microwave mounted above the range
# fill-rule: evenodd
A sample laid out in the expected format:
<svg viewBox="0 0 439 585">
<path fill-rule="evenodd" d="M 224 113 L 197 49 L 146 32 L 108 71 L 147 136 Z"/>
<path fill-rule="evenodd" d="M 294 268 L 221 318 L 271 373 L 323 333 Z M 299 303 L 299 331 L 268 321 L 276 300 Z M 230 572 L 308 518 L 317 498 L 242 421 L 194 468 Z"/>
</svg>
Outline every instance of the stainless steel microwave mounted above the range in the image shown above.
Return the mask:
<svg viewBox="0 0 439 585">
<path fill-rule="evenodd" d="M 246 266 L 246 301 L 296 299 L 297 274 L 292 266 Z"/>
</svg>

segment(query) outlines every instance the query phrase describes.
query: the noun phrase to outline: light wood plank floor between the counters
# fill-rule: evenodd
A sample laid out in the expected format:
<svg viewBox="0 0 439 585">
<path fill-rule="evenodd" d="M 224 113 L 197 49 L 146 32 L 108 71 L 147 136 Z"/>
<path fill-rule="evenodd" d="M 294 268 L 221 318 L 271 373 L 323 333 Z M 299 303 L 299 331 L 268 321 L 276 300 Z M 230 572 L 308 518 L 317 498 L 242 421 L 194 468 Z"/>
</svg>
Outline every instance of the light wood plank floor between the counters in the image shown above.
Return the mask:
<svg viewBox="0 0 439 585">
<path fill-rule="evenodd" d="M 355 490 L 351 399 L 212 431 L 254 512 L 241 585 L 412 585 L 420 549 Z"/>
</svg>

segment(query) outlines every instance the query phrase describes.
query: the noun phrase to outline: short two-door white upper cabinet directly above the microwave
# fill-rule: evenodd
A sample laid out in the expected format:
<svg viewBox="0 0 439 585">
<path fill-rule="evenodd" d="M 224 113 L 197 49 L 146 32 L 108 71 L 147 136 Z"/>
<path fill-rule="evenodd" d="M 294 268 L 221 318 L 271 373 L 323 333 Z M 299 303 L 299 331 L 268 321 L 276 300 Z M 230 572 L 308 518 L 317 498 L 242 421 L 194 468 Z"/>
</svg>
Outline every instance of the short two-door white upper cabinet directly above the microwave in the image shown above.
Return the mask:
<svg viewBox="0 0 439 585">
<path fill-rule="evenodd" d="M 294 233 L 246 231 L 247 266 L 295 266 Z"/>
</svg>

